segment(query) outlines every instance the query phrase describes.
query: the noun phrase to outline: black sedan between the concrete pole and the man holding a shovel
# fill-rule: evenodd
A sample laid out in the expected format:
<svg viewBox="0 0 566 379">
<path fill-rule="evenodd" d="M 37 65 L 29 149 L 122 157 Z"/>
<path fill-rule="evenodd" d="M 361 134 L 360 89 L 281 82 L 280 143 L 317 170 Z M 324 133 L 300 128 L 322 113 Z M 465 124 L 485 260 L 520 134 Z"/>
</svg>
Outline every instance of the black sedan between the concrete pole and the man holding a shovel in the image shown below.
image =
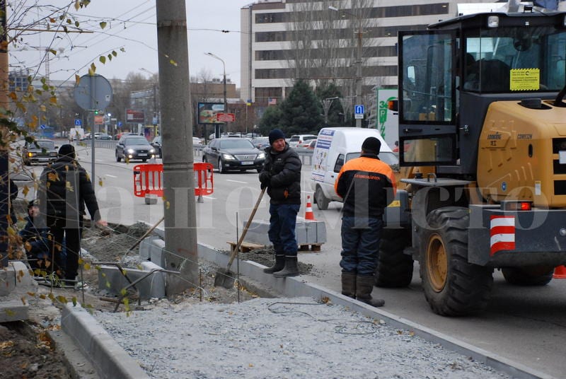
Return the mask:
<svg viewBox="0 0 566 379">
<path fill-rule="evenodd" d="M 249 139 L 215 138 L 202 151 L 202 161 L 212 163 L 220 173 L 229 170 L 258 170 L 263 167 L 265 153 Z"/>
</svg>

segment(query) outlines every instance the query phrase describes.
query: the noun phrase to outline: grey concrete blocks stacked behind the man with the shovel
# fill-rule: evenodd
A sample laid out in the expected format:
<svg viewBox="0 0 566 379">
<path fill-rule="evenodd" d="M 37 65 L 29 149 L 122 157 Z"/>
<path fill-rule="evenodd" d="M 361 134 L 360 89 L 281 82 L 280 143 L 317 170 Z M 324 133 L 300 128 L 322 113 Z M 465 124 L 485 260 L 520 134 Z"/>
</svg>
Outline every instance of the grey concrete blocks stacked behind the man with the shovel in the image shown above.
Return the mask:
<svg viewBox="0 0 566 379">
<path fill-rule="evenodd" d="M 243 223 L 243 226 L 246 226 L 246 222 Z M 267 235 L 269 229 L 269 221 L 252 221 L 244 240 L 250 243 L 257 243 L 258 245 L 269 246 L 271 245 L 269 236 Z M 296 243 L 299 246 L 322 245 L 326 242 L 326 224 L 323 221 L 306 220 L 302 217 L 297 217 L 295 236 Z"/>
</svg>

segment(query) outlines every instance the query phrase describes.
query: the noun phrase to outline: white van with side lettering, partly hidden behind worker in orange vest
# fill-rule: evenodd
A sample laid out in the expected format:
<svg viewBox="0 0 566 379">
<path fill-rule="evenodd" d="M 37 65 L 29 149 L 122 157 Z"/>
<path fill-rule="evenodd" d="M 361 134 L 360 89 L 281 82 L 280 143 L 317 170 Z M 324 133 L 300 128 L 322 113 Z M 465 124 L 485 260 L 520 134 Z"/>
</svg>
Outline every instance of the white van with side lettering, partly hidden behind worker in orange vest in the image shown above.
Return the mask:
<svg viewBox="0 0 566 379">
<path fill-rule="evenodd" d="M 342 198 L 334 191 L 334 182 L 340 173 L 340 168 L 350 159 L 359 157 L 362 153 L 362 144 L 371 136 L 381 141 L 379 159 L 388 165 L 398 164 L 398 158 L 383 141 L 377 129 L 353 127 L 320 129 L 313 152 L 311 174 L 311 188 L 318 209 L 328 209 L 330 202 L 342 202 Z"/>
</svg>

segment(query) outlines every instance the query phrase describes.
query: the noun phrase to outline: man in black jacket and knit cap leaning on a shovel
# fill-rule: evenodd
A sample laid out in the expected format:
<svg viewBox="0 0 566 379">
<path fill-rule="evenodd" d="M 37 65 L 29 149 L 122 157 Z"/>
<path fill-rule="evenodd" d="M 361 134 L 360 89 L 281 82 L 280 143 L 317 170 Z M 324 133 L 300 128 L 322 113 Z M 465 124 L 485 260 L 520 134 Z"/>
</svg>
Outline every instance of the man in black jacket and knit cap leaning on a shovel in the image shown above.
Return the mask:
<svg viewBox="0 0 566 379">
<path fill-rule="evenodd" d="M 301 207 L 301 159 L 281 130 L 273 129 L 269 139 L 260 182 L 271 198 L 268 235 L 275 249 L 275 264 L 263 271 L 277 278 L 297 276 L 295 224 Z"/>
</svg>

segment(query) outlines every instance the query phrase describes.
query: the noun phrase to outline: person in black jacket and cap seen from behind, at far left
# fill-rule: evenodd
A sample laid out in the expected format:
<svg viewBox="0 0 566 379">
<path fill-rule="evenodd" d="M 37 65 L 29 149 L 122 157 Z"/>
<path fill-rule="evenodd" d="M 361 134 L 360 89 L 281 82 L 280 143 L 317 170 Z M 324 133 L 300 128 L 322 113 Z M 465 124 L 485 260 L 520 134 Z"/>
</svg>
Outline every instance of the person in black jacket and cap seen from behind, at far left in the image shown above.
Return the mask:
<svg viewBox="0 0 566 379">
<path fill-rule="evenodd" d="M 57 160 L 43 170 L 39 189 L 40 209 L 47 216 L 47 226 L 55 243 L 54 269 L 66 284 L 74 284 L 79 269 L 85 204 L 98 226 L 107 225 L 100 218 L 91 179 L 75 158 L 74 146 L 62 145 Z M 67 245 L 66 264 L 60 254 L 63 238 Z"/>
</svg>

